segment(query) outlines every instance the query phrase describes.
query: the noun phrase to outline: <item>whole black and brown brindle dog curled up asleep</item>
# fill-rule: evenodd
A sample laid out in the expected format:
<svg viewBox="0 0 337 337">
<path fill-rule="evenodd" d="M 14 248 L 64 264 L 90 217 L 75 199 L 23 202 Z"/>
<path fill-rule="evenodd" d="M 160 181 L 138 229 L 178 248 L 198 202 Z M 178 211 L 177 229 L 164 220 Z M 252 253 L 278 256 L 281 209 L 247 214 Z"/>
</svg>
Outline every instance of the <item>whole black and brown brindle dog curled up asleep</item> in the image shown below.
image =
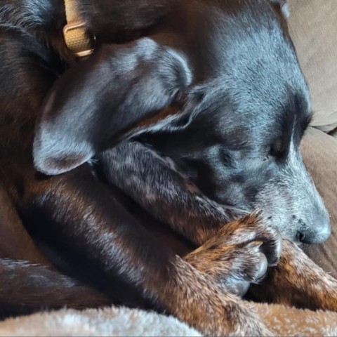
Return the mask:
<svg viewBox="0 0 337 337">
<path fill-rule="evenodd" d="M 236 295 L 277 263 L 278 231 L 298 242 L 329 236 L 298 152 L 310 103 L 280 4 L 81 1 L 78 10 L 98 49 L 64 73 L 62 1 L 1 4 L 4 314 L 118 300 L 211 335 L 267 335 Z M 176 256 L 102 178 L 199 248 Z M 83 283 L 58 274 L 31 236 Z M 296 266 L 279 282 L 298 260 L 316 290 Z M 336 310 L 336 283 L 317 270 L 286 239 L 270 279 L 295 304 Z"/>
</svg>

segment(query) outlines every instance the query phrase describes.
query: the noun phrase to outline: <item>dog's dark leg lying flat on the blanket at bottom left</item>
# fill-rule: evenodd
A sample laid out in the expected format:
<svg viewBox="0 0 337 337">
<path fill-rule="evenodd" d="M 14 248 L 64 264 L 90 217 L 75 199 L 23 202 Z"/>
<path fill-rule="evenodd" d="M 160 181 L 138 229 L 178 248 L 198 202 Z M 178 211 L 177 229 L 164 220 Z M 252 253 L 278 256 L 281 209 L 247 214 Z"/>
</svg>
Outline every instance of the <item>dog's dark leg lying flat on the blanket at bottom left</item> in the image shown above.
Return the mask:
<svg viewBox="0 0 337 337">
<path fill-rule="evenodd" d="M 43 265 L 0 258 L 0 317 L 39 310 L 98 308 L 111 300 Z"/>
</svg>

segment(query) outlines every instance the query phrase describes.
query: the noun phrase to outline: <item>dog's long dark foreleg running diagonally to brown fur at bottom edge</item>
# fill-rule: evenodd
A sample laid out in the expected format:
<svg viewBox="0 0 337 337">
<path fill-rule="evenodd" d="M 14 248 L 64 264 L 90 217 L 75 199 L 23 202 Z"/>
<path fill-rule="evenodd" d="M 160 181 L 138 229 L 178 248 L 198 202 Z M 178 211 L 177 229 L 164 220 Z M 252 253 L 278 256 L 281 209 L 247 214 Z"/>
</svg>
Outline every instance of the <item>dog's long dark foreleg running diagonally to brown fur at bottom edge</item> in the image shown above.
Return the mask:
<svg viewBox="0 0 337 337">
<path fill-rule="evenodd" d="M 164 249 L 87 165 L 34 179 L 26 190 L 22 214 L 29 223 L 59 249 L 91 261 L 111 284 L 121 279 L 150 303 L 211 336 L 269 334 L 248 304 Z"/>
</svg>

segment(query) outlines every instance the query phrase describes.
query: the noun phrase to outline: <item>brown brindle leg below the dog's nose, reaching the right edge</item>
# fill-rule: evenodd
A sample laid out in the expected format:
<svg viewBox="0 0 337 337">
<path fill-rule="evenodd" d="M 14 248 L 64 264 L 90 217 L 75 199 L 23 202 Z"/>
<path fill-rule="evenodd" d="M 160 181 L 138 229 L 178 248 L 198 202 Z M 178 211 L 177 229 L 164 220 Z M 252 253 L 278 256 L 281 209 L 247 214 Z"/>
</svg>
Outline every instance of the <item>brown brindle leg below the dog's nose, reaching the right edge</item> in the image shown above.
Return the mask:
<svg viewBox="0 0 337 337">
<path fill-rule="evenodd" d="M 277 267 L 251 291 L 256 298 L 272 303 L 312 310 L 337 311 L 337 280 L 324 272 L 293 242 L 284 239 Z"/>
</svg>

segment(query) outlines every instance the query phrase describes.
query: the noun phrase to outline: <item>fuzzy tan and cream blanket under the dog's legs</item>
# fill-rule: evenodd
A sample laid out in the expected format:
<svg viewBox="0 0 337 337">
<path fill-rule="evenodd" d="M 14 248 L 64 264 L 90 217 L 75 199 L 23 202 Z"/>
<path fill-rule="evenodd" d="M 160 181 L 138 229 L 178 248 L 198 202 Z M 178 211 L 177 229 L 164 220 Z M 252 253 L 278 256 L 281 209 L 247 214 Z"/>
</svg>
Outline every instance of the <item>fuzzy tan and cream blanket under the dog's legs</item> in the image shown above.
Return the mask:
<svg viewBox="0 0 337 337">
<path fill-rule="evenodd" d="M 337 336 L 337 312 L 256 305 L 275 336 Z M 173 317 L 128 308 L 60 310 L 0 323 L 0 336 L 201 336 Z"/>
</svg>

